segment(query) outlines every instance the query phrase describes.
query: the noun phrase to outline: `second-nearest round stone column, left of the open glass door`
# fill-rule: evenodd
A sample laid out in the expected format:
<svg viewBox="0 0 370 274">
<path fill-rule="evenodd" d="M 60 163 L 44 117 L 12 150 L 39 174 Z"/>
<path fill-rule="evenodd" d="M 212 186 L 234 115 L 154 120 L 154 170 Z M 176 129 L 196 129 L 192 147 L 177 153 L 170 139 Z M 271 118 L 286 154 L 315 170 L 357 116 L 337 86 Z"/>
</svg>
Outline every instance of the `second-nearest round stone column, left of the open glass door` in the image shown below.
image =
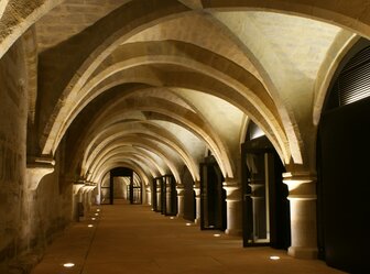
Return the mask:
<svg viewBox="0 0 370 274">
<path fill-rule="evenodd" d="M 230 178 L 224 183 L 226 190 L 227 229 L 226 234 L 242 234 L 241 185 Z"/>
</svg>

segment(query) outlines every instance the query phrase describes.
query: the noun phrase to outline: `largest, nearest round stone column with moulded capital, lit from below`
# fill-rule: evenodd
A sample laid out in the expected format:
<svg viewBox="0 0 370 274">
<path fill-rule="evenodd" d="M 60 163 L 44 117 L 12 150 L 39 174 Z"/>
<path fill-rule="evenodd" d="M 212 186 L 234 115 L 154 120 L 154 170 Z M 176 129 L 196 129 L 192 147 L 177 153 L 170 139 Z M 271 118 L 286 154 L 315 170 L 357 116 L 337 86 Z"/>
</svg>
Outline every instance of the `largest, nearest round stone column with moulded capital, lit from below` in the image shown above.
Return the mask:
<svg viewBox="0 0 370 274">
<path fill-rule="evenodd" d="M 292 243 L 287 253 L 298 259 L 316 259 L 316 176 L 309 173 L 285 173 L 283 177 L 291 204 Z"/>
</svg>

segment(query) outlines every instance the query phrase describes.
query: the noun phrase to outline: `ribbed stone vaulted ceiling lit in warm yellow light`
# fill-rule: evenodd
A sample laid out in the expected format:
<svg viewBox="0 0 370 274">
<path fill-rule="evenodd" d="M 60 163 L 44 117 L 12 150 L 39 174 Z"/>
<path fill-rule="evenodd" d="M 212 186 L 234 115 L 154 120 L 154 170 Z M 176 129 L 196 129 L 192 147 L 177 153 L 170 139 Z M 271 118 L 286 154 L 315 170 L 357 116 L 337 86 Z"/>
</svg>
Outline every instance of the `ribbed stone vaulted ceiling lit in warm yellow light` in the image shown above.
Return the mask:
<svg viewBox="0 0 370 274">
<path fill-rule="evenodd" d="M 252 120 L 312 171 L 330 75 L 370 34 L 360 7 L 333 2 L 1 0 L 0 54 L 22 37 L 31 56 L 29 151 L 63 143 L 67 173 L 94 183 L 117 166 L 199 180 L 210 151 L 238 179 Z"/>
</svg>

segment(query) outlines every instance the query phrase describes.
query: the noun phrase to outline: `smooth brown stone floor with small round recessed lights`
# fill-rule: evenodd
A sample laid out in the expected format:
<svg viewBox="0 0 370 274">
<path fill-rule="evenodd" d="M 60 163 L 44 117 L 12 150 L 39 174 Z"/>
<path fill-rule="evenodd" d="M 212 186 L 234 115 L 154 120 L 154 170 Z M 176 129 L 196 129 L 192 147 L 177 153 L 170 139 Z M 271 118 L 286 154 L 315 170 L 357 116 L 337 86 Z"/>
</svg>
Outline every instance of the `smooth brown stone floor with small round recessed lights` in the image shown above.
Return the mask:
<svg viewBox="0 0 370 274">
<path fill-rule="evenodd" d="M 243 249 L 239 238 L 215 237 L 215 231 L 186 223 L 146 206 L 94 207 L 87 220 L 55 239 L 32 274 L 342 273 L 322 261 L 290 257 L 281 250 Z M 271 255 L 281 259 L 273 261 Z M 65 263 L 75 266 L 64 267 Z"/>
</svg>

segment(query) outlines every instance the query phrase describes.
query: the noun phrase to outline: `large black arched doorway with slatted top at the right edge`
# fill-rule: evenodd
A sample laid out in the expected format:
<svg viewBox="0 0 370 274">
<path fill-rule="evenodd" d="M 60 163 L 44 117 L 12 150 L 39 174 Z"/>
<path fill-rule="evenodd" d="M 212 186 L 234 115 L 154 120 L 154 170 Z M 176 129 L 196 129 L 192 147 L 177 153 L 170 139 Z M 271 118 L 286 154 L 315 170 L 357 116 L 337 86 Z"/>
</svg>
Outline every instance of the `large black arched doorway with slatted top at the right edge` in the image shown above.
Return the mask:
<svg viewBox="0 0 370 274">
<path fill-rule="evenodd" d="M 370 43 L 360 40 L 331 80 L 317 136 L 318 245 L 328 265 L 370 273 Z"/>
</svg>

